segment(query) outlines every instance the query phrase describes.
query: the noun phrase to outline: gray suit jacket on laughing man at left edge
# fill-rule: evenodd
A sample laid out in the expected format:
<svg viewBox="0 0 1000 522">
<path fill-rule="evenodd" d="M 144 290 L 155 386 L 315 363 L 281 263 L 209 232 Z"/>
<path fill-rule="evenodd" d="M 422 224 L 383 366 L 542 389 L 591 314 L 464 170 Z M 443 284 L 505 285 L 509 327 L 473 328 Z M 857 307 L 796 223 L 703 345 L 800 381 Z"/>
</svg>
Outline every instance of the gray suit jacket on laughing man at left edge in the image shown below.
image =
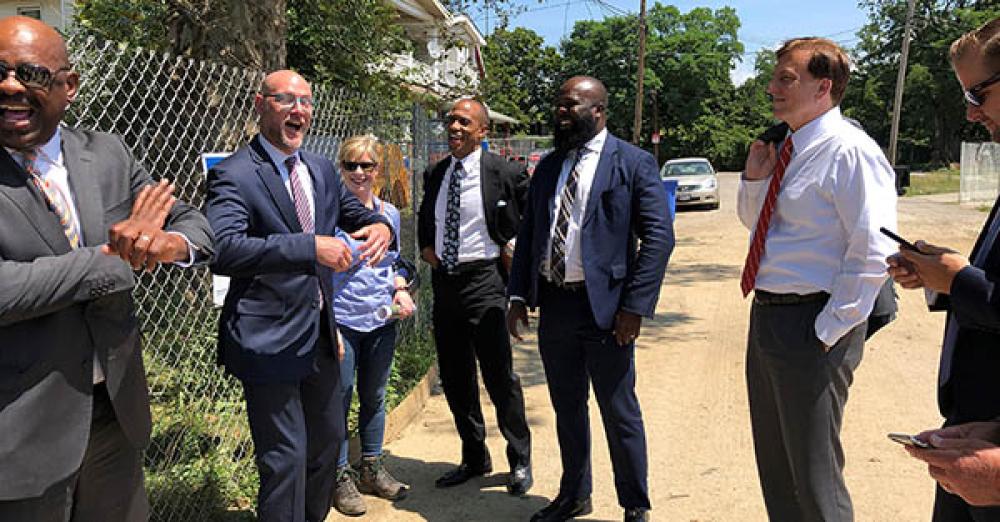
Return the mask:
<svg viewBox="0 0 1000 522">
<path fill-rule="evenodd" d="M 79 468 L 87 447 L 96 350 L 118 421 L 136 449 L 150 414 L 132 270 L 100 252 L 108 228 L 151 183 L 117 136 L 62 129 L 83 245 L 0 148 L 0 500 L 40 495 Z M 211 255 L 211 229 L 178 202 L 167 230 Z"/>
</svg>

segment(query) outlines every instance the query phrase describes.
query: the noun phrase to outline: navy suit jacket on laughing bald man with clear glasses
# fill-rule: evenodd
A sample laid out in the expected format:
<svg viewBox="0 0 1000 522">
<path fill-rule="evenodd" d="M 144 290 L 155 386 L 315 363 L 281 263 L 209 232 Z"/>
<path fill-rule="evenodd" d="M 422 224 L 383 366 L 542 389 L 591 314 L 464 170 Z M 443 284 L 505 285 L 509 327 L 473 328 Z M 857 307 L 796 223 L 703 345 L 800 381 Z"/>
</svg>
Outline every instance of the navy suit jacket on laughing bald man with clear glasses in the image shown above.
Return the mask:
<svg viewBox="0 0 1000 522">
<path fill-rule="evenodd" d="M 312 371 L 322 288 L 331 338 L 333 271 L 316 261 L 316 235 L 387 220 L 348 191 L 330 160 L 299 151 L 315 198 L 315 234 L 302 231 L 260 136 L 208 174 L 205 214 L 215 231 L 212 271 L 230 276 L 219 317 L 219 360 L 246 382 L 299 380 Z"/>
</svg>

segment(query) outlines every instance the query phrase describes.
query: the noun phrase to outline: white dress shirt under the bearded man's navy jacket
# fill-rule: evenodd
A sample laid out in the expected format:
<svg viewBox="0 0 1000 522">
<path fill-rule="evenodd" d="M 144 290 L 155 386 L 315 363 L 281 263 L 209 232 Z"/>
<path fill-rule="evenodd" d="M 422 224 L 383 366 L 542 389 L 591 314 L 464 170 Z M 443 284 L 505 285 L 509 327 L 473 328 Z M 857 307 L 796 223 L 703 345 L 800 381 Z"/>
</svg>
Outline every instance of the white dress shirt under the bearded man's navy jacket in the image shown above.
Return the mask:
<svg viewBox="0 0 1000 522">
<path fill-rule="evenodd" d="M 602 129 L 601 132 L 597 133 L 596 136 L 583 144 L 579 149 L 567 154 L 566 159 L 563 160 L 562 170 L 559 171 L 559 180 L 556 182 L 552 222 L 549 224 L 549 243 L 545 249 L 545 259 L 542 261 L 541 270 L 542 275 L 545 277 L 549 275 L 549 256 L 552 254 L 552 238 L 555 237 L 556 221 L 558 221 L 559 212 L 562 208 L 563 188 L 566 186 L 566 181 L 573 170 L 573 165 L 577 164 L 577 158 L 579 157 L 579 164 L 576 165 L 580 176 L 576 185 L 576 204 L 573 205 L 573 209 L 570 212 L 569 226 L 566 229 L 566 277 L 564 281 L 567 283 L 583 281 L 583 251 L 580 245 L 583 240 L 581 226 L 583 225 L 583 217 L 587 215 L 590 187 L 594 184 L 594 175 L 597 174 L 597 163 L 601 159 L 601 151 L 604 150 L 604 142 L 607 138 L 608 130 Z"/>
</svg>

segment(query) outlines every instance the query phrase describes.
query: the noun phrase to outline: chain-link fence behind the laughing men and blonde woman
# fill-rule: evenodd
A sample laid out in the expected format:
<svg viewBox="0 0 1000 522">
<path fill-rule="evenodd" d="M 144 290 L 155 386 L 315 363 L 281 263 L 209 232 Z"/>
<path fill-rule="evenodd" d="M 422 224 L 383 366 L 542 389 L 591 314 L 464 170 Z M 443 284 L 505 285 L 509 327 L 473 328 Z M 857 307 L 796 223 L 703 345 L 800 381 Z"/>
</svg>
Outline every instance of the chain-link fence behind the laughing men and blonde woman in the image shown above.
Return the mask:
<svg viewBox="0 0 1000 522">
<path fill-rule="evenodd" d="M 253 94 L 264 73 L 82 36 L 71 37 L 69 47 L 81 87 L 67 123 L 123 136 L 154 178 L 172 179 L 180 199 L 201 206 L 200 156 L 234 151 L 256 134 Z M 416 260 L 413 201 L 421 187 L 411 173 L 440 148 L 443 128 L 419 107 L 387 114 L 357 93 L 322 85 L 314 85 L 314 95 L 305 148 L 333 159 L 350 135 L 374 134 L 387 144 L 382 194 L 400 208 L 401 250 Z M 145 456 L 152 519 L 254 519 L 257 474 L 242 388 L 215 363 L 211 274 L 161 267 L 140 277 L 135 297 L 154 424 Z M 419 292 L 425 312 L 401 324 L 393 388 L 427 369 L 426 354 L 411 352 L 431 346 L 429 299 L 429 291 Z"/>
</svg>

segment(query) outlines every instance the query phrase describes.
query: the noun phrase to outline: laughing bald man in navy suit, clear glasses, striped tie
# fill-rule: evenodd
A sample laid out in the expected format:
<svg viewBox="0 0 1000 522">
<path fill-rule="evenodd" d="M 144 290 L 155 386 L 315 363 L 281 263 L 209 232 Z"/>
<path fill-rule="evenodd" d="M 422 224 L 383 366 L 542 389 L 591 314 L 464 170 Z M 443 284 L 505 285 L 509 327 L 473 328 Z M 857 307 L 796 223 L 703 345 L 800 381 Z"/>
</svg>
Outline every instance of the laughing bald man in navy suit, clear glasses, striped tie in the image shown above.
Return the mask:
<svg viewBox="0 0 1000 522">
<path fill-rule="evenodd" d="M 219 359 L 243 384 L 260 474 L 262 521 L 326 518 L 344 413 L 330 296 L 351 265 L 340 227 L 378 261 L 385 218 L 345 190 L 330 160 L 299 150 L 312 89 L 292 71 L 254 98 L 260 134 L 208 175 L 206 215 L 218 238 L 212 270 L 232 277 L 219 318 Z"/>
</svg>

